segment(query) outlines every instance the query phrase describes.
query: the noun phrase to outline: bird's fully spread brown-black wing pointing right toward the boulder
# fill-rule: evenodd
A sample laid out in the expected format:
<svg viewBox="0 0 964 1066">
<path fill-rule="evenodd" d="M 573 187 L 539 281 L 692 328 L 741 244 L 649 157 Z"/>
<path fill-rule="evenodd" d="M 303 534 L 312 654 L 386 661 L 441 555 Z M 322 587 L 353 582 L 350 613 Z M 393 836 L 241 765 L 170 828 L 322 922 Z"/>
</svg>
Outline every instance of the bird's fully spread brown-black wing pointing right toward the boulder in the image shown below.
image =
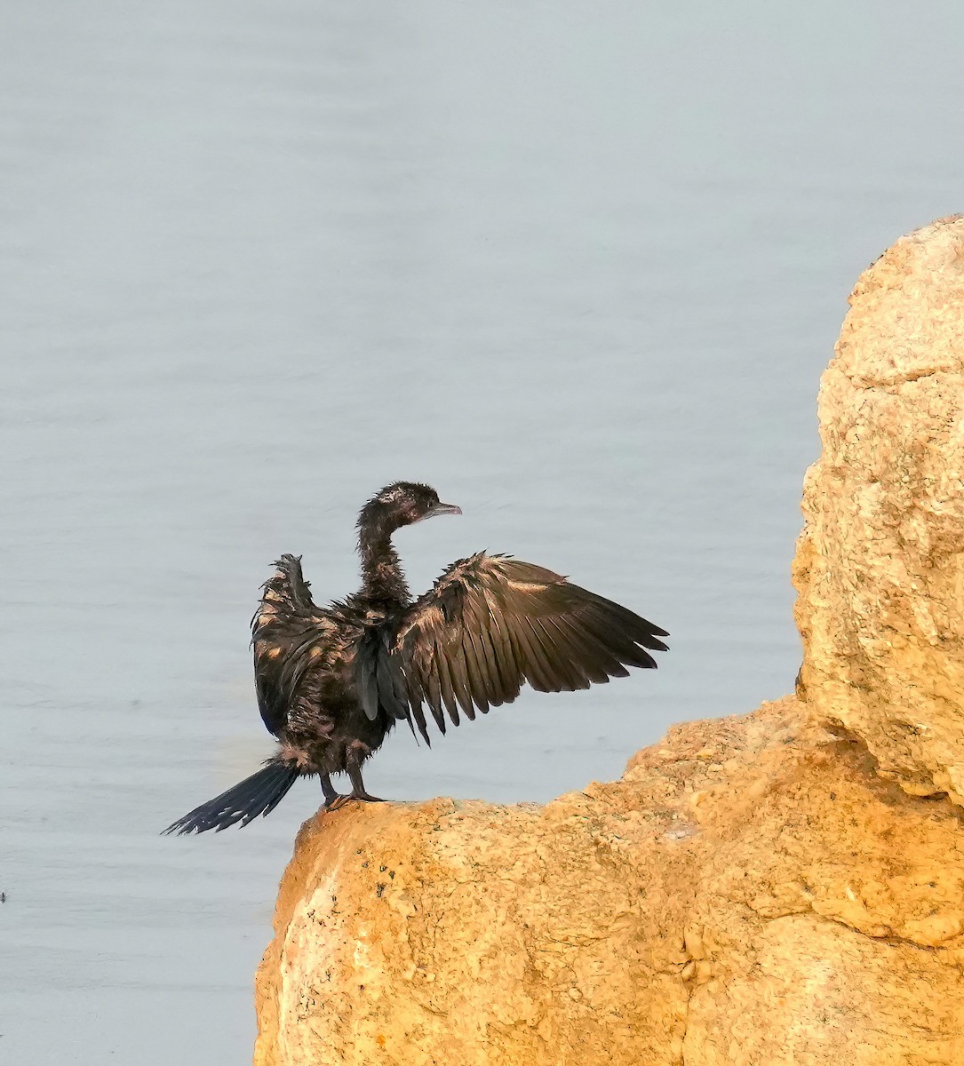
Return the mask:
<svg viewBox="0 0 964 1066">
<path fill-rule="evenodd" d="M 669 635 L 612 600 L 508 555 L 454 563 L 392 632 L 370 631 L 357 658 L 367 713 L 379 704 L 414 722 L 429 740 L 424 705 L 441 732 L 445 714 L 512 702 L 529 682 L 540 692 L 572 692 L 627 666 L 655 667 Z M 407 706 L 405 706 L 407 697 Z"/>
</svg>

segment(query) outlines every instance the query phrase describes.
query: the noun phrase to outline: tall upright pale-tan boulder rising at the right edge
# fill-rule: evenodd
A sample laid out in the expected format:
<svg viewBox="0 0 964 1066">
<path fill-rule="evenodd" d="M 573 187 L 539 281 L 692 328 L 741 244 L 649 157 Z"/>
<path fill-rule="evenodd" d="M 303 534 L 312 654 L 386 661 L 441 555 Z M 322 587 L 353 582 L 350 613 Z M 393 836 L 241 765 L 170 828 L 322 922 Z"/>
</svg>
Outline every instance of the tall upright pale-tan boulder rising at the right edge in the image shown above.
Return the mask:
<svg viewBox="0 0 964 1066">
<path fill-rule="evenodd" d="M 964 216 L 857 281 L 823 374 L 798 546 L 818 718 L 909 792 L 964 804 Z"/>
</svg>

